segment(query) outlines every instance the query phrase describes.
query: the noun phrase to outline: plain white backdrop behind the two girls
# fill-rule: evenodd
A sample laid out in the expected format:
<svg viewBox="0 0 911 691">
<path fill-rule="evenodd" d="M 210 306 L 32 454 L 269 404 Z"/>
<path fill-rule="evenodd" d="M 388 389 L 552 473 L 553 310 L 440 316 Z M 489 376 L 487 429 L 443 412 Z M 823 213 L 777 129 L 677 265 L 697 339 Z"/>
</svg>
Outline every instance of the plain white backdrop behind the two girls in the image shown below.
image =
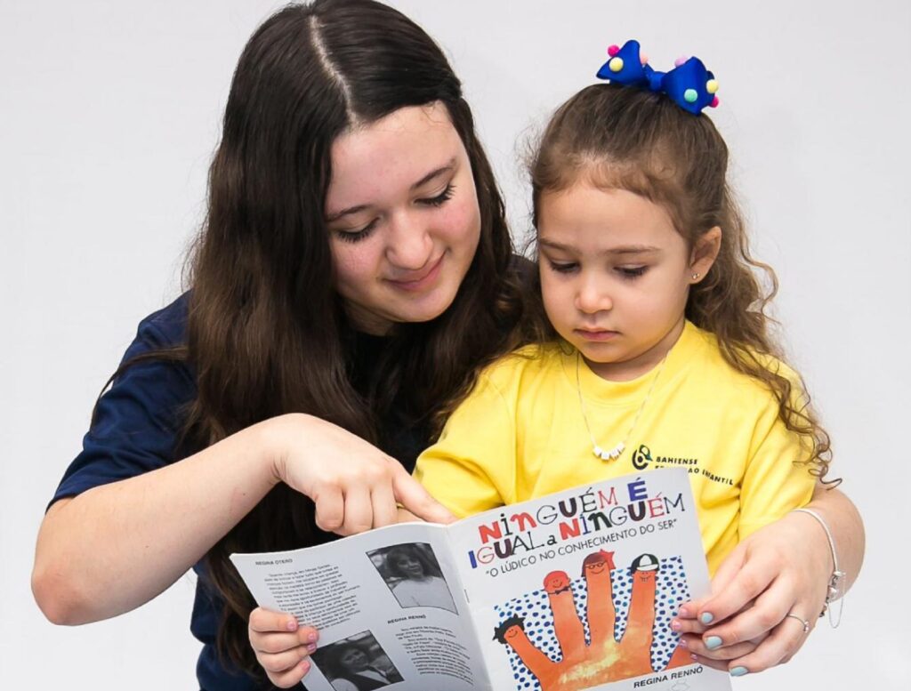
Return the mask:
<svg viewBox="0 0 911 691">
<path fill-rule="evenodd" d="M 837 631 L 738 689 L 908 689 L 911 5 L 402 0 L 462 77 L 517 235 L 517 139 L 640 39 L 718 76 L 711 112 L 778 314 L 865 515 Z M 56 627 L 29 591 L 47 500 L 144 315 L 179 293 L 249 0 L 0 0 L 0 687 L 195 688 L 190 576 L 114 621 Z M 665 68 L 667 68 L 665 67 Z M 137 564 L 142 568 L 142 564 Z"/>
</svg>

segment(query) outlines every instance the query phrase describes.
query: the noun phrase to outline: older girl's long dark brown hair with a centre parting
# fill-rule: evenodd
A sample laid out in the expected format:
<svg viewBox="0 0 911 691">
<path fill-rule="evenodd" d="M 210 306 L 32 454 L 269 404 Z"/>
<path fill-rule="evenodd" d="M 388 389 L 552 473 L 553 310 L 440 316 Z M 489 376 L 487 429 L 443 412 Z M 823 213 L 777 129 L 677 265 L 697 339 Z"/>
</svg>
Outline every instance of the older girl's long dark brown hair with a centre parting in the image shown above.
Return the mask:
<svg viewBox="0 0 911 691">
<path fill-rule="evenodd" d="M 397 325 L 368 391 L 355 391 L 353 330 L 333 289 L 323 220 L 330 150 L 350 127 L 431 103 L 446 107 L 471 161 L 480 243 L 452 305 L 435 320 Z M 241 54 L 210 168 L 189 272 L 188 343 L 177 353 L 197 374 L 189 437 L 205 446 L 307 412 L 383 448 L 393 407 L 396 419 L 435 433 L 477 371 L 513 345 L 521 300 L 512 253 L 471 111 L 434 41 L 370 0 L 285 7 Z M 247 640 L 255 604 L 228 555 L 330 539 L 312 502 L 280 485 L 210 550 L 208 573 L 227 604 L 219 650 L 235 666 L 262 678 Z"/>
</svg>

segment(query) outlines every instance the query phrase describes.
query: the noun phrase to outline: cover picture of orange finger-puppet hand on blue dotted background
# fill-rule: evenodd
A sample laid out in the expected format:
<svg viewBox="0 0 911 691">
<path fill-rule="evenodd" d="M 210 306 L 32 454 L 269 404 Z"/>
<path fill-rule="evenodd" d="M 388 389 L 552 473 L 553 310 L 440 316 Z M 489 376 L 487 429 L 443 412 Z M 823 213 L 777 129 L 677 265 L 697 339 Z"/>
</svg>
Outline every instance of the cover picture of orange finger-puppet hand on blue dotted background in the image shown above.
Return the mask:
<svg viewBox="0 0 911 691">
<path fill-rule="evenodd" d="M 577 691 L 692 664 L 670 630 L 690 599 L 681 557 L 639 554 L 617 568 L 615 556 L 593 552 L 578 578 L 551 571 L 541 589 L 494 606 L 517 689 Z"/>
</svg>

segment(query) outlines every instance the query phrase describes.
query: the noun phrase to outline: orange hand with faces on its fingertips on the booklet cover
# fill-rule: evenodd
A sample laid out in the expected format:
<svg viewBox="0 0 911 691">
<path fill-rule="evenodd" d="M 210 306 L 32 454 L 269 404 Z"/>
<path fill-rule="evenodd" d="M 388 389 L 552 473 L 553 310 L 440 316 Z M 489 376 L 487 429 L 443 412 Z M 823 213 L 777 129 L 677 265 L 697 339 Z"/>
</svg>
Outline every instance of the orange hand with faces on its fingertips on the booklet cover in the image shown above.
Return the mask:
<svg viewBox="0 0 911 691">
<path fill-rule="evenodd" d="M 651 637 L 655 623 L 655 579 L 658 559 L 642 554 L 632 564 L 632 598 L 626 630 L 617 640 L 614 625 L 613 585 L 610 571 L 614 553 L 589 554 L 582 565 L 589 597 L 586 618 L 590 640 L 586 643 L 585 627 L 576 611 L 576 601 L 569 576 L 554 571 L 544 579 L 550 609 L 554 615 L 554 633 L 562 652 L 558 662 L 551 660 L 528 638 L 524 619 L 513 616 L 496 628 L 495 638 L 509 645 L 528 671 L 537 677 L 541 691 L 578 691 L 609 681 L 642 676 L 653 671 Z M 677 647 L 665 668 L 691 665 L 685 648 Z"/>
</svg>

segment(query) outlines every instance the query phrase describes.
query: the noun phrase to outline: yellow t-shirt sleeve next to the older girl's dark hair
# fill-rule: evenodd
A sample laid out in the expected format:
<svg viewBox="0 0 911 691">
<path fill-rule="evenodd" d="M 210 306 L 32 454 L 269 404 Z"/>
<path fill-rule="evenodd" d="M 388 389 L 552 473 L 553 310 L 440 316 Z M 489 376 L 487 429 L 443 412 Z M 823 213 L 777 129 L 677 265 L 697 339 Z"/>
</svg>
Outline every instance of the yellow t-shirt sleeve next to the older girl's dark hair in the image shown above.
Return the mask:
<svg viewBox="0 0 911 691">
<path fill-rule="evenodd" d="M 486 375 L 421 454 L 415 478 L 455 515 L 511 503 L 516 473 L 515 407 Z"/>
</svg>

